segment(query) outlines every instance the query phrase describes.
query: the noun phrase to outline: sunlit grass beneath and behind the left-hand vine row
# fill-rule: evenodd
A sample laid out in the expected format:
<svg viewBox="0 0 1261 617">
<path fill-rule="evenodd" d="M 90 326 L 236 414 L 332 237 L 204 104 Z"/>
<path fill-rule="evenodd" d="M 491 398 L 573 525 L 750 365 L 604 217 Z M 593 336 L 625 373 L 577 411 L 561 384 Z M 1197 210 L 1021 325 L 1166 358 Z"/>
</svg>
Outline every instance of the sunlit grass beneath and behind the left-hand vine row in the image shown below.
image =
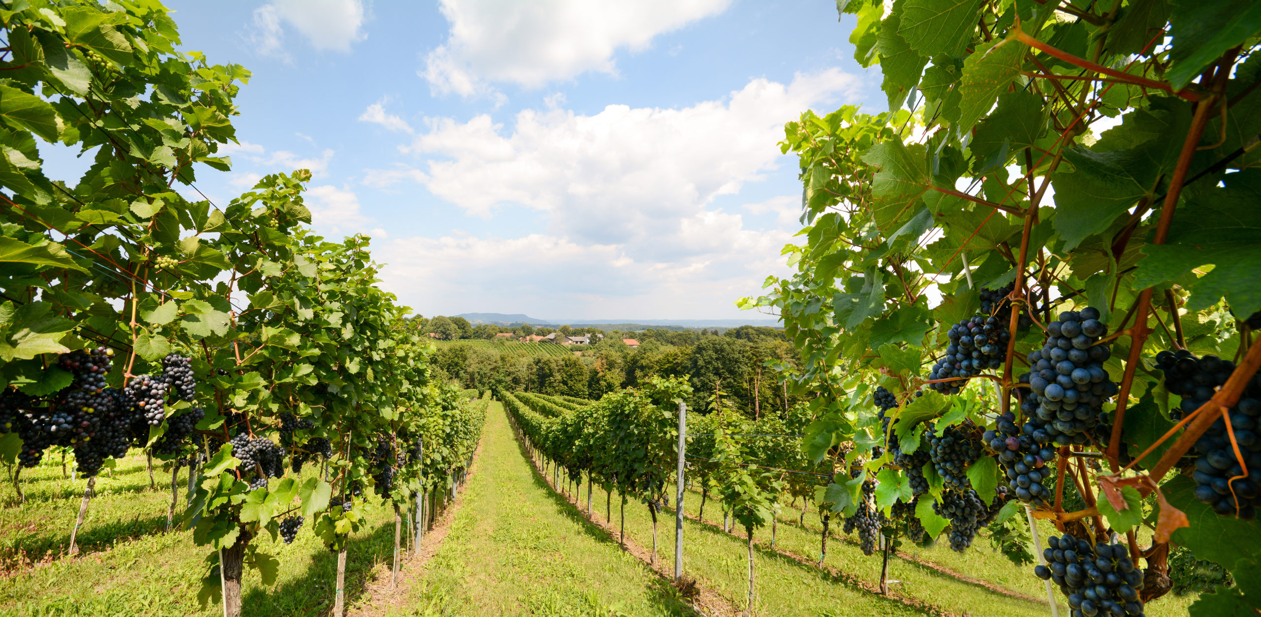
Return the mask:
<svg viewBox="0 0 1261 617">
<path fill-rule="evenodd" d="M 304 472 L 314 476 L 318 466 L 308 464 Z M 139 450 L 119 461 L 112 478 L 101 473 L 79 532 L 83 553 L 78 558 L 67 558 L 64 551 L 86 481 L 63 479 L 58 455 L 23 469 L 26 503 L 18 503 L 13 485 L 6 482 L 0 493 L 0 563 L 11 572 L 0 577 L 0 617 L 222 614 L 219 604 L 200 608 L 197 602 L 209 549 L 193 544 L 192 532 L 161 532 L 170 502 L 170 472 L 155 469 L 154 477 L 158 488 L 150 490 Z M 187 473 L 182 472 L 179 481 L 183 500 Z M 393 550 L 393 510 L 375 497 L 362 507 L 368 525 L 356 534 L 347 555 L 347 599 L 352 604 L 362 598 L 371 570 L 390 560 Z M 280 577 L 275 587 L 262 587 L 257 572 L 246 570 L 245 614 L 327 612 L 337 555 L 324 549 L 309 525 L 291 545 L 270 536 L 257 540 L 260 550 L 279 556 Z M 45 563 L 21 565 L 28 559 Z"/>
</svg>

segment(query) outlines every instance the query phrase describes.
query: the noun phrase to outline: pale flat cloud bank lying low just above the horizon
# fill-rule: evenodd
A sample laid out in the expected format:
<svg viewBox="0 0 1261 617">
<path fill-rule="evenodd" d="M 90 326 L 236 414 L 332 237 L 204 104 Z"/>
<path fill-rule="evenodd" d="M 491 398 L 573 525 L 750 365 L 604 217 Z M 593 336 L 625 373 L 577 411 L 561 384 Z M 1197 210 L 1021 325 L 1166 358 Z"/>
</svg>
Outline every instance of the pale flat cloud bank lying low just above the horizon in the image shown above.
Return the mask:
<svg viewBox="0 0 1261 617">
<path fill-rule="evenodd" d="M 734 300 L 755 294 L 768 274 L 788 274 L 778 255 L 792 231 L 739 230 L 739 217 L 697 217 L 687 226 L 690 237 L 705 237 L 707 251 L 723 241 L 734 244 L 656 262 L 629 257 L 624 246 L 550 235 L 455 233 L 376 244 L 373 256 L 387 264 L 382 286 L 430 315 L 493 310 L 559 318 L 565 315 L 556 314 L 556 307 L 565 307 L 566 315 L 593 319 L 750 317 L 740 314 Z"/>
</svg>

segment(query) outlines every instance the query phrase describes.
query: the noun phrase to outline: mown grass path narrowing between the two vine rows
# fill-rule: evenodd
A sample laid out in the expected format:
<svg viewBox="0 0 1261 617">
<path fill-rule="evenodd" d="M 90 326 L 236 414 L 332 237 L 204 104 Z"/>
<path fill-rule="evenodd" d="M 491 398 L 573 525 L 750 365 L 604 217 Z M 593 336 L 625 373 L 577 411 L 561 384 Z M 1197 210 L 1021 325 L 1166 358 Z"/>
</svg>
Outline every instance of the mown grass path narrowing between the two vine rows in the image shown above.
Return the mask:
<svg viewBox="0 0 1261 617">
<path fill-rule="evenodd" d="M 391 614 L 687 614 L 670 584 L 533 474 L 492 405 L 451 531 Z"/>
</svg>

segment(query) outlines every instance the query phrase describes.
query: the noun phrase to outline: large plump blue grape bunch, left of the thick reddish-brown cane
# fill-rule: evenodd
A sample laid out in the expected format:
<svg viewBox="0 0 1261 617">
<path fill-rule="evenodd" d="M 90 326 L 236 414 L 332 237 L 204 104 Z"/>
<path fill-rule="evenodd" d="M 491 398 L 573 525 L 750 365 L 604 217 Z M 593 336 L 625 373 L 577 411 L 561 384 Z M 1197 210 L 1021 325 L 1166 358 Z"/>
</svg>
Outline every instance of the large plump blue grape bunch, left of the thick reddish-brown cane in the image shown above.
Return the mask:
<svg viewBox="0 0 1261 617">
<path fill-rule="evenodd" d="M 1031 372 L 1020 376 L 1033 390 L 1020 409 L 1057 445 L 1098 442 L 1107 434 L 1102 405 L 1120 390 L 1103 370 L 1111 352 L 1096 344 L 1107 334 L 1098 317 L 1090 307 L 1061 313 L 1058 322 L 1047 324 L 1043 348 L 1029 353 Z"/>
</svg>

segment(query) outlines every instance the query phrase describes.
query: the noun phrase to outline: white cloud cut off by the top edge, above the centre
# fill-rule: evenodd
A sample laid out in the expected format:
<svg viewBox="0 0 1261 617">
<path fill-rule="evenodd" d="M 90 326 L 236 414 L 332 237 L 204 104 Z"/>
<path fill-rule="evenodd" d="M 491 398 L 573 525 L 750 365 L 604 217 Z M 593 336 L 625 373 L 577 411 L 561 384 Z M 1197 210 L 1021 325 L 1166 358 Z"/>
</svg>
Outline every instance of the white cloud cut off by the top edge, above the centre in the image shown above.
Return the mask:
<svg viewBox="0 0 1261 617">
<path fill-rule="evenodd" d="M 451 24 L 420 76 L 435 92 L 485 93 L 488 82 L 541 87 L 588 71 L 615 73 L 613 54 L 726 10 L 730 0 L 443 0 Z"/>
</svg>

